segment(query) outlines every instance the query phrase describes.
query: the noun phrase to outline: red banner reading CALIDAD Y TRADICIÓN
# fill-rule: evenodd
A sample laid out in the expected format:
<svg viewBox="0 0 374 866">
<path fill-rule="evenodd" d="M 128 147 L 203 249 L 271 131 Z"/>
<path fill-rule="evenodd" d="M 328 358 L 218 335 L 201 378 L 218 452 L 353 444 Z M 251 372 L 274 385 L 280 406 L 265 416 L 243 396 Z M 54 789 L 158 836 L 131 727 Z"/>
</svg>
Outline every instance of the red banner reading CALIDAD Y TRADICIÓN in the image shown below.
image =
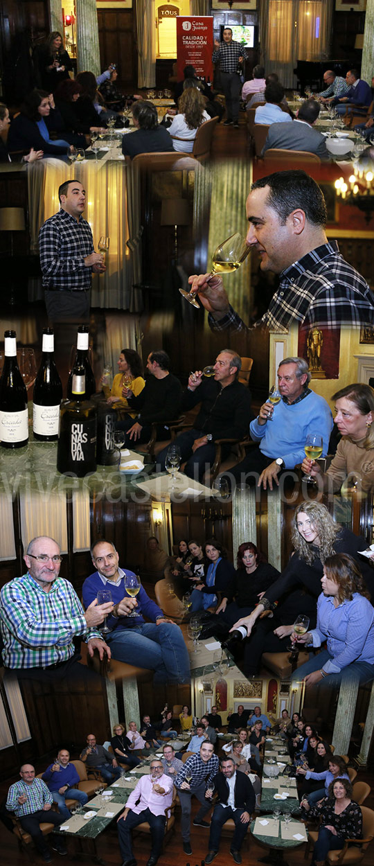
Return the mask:
<svg viewBox="0 0 374 866">
<path fill-rule="evenodd" d="M 197 75 L 213 79 L 213 17 L 177 16 L 177 80 L 182 81 L 184 67 L 194 66 Z"/>
</svg>

